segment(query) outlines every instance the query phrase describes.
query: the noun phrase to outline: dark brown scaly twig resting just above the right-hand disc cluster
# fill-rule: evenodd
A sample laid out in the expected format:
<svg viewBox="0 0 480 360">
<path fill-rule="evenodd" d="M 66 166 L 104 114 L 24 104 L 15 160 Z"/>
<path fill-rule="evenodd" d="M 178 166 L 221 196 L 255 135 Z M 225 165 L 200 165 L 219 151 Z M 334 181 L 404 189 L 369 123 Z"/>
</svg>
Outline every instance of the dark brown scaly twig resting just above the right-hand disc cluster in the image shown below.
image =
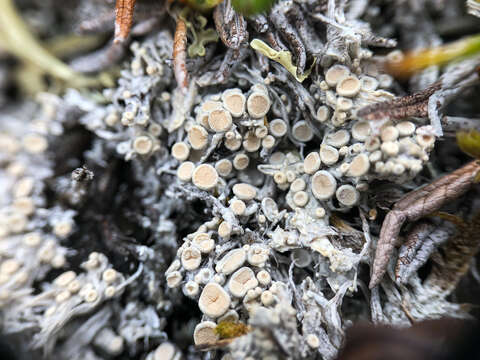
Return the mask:
<svg viewBox="0 0 480 360">
<path fill-rule="evenodd" d="M 358 111 L 357 115 L 365 120 L 400 120 L 412 116 L 428 117 L 428 99 L 440 87 L 440 83 L 437 82 L 415 94 L 365 106 Z"/>
</svg>

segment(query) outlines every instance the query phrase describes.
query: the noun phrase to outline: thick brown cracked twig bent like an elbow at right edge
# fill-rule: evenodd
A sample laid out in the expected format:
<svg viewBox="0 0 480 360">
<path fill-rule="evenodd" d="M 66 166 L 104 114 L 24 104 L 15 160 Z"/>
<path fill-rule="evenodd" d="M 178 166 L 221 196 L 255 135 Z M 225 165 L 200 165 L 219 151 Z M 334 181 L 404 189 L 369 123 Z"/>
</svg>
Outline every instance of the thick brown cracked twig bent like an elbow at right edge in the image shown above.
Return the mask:
<svg viewBox="0 0 480 360">
<path fill-rule="evenodd" d="M 382 279 L 398 235 L 405 221 L 416 221 L 440 209 L 446 202 L 464 194 L 480 171 L 480 163 L 472 161 L 433 183 L 412 191 L 398 201 L 382 224 L 373 262 L 370 288 Z"/>
</svg>

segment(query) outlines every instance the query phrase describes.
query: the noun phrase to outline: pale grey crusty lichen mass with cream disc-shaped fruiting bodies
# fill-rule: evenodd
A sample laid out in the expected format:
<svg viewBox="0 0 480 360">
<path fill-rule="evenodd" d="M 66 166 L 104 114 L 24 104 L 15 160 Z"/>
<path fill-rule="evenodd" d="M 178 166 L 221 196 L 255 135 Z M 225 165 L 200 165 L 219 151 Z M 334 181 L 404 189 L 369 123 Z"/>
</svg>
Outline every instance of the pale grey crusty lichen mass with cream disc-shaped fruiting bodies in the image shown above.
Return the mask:
<svg viewBox="0 0 480 360">
<path fill-rule="evenodd" d="M 477 123 L 478 58 L 410 83 L 384 66 L 447 38 L 434 22 L 460 2 L 443 4 L 279 1 L 244 18 L 228 1 L 212 15 L 137 2 L 130 37 L 101 49 L 107 67 L 122 59 L 115 84 L 31 101 L 0 78 L 2 331 L 56 359 L 335 359 L 360 320 L 468 317 L 429 266 L 419 274 L 428 261 L 441 275 L 437 249 L 455 238 L 438 213 L 403 228 L 391 256 L 404 262 L 366 286 L 385 214 L 461 168 L 450 135 Z M 41 11 L 41 38 L 76 26 L 114 36 L 108 2 L 59 3 L 61 26 L 47 5 L 22 2 L 26 21 Z M 184 88 L 177 16 L 190 29 Z M 397 41 L 377 34 L 398 34 L 399 48 L 379 49 Z M 13 66 L 2 57 L 0 75 Z M 458 136 L 478 155 L 477 133 Z M 469 221 L 475 191 L 440 210 Z M 423 242 L 410 246 L 410 230 Z M 476 247 L 462 250 L 470 264 Z M 458 277 L 442 278 L 453 291 Z"/>
</svg>

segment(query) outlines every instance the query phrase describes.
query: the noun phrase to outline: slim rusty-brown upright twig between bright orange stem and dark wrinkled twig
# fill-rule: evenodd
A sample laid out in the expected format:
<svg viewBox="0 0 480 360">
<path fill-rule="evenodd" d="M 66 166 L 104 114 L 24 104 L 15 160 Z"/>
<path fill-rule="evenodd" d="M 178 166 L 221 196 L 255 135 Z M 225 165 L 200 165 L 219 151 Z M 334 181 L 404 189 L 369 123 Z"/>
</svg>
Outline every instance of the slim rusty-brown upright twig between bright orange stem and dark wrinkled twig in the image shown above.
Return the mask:
<svg viewBox="0 0 480 360">
<path fill-rule="evenodd" d="M 177 27 L 173 38 L 173 72 L 179 88 L 184 94 L 188 90 L 187 72 L 187 24 L 180 17 L 177 18 Z"/>
</svg>

